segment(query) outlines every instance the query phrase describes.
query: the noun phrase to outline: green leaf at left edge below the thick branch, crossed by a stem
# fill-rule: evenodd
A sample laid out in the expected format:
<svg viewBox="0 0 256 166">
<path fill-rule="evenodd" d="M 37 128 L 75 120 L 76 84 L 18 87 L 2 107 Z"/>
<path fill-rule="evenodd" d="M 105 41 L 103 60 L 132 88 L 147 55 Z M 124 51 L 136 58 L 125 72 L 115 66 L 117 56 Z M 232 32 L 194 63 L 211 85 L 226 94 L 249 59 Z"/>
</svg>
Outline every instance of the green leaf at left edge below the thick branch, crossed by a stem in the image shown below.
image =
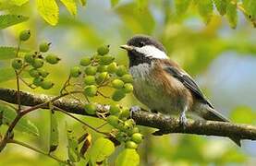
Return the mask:
<svg viewBox="0 0 256 166">
<path fill-rule="evenodd" d="M 4 104 L 0 104 L 0 111 L 3 112 L 4 125 L 10 125 L 17 115 L 16 111 L 13 108 L 8 107 Z M 38 128 L 36 127 L 36 125 L 32 124 L 30 120 L 26 117 L 22 117 L 18 121 L 18 124 L 15 126 L 14 129 L 33 136 L 39 136 Z"/>
</svg>

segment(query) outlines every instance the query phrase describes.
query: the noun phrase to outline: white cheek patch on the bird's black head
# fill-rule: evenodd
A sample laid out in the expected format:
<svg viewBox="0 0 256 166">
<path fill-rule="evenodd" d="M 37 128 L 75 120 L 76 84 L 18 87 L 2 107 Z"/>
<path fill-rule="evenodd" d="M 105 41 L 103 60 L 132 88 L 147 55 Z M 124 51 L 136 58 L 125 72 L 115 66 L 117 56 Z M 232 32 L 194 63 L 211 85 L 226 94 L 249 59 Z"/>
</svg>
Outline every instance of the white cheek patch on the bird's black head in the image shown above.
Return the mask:
<svg viewBox="0 0 256 166">
<path fill-rule="evenodd" d="M 139 53 L 143 53 L 147 57 L 157 58 L 157 59 L 168 59 L 168 56 L 165 52 L 157 49 L 152 45 L 146 45 L 143 47 L 137 47 L 135 50 Z"/>
</svg>

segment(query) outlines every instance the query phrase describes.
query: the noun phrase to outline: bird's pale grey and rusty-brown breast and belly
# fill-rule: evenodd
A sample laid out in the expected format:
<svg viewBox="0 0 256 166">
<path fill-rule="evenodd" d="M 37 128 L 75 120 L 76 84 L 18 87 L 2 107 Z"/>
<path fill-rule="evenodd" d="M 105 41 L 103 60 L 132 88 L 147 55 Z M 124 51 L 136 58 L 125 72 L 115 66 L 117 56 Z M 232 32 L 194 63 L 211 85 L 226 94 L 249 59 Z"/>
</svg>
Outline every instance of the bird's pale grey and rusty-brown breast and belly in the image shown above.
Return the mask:
<svg viewBox="0 0 256 166">
<path fill-rule="evenodd" d="M 158 76 L 161 74 L 155 67 L 157 66 L 153 64 L 140 64 L 129 68 L 129 72 L 134 78 L 134 95 L 151 110 L 165 114 L 176 114 L 181 111 L 185 99 L 177 91 L 173 93 L 168 91 L 170 88 L 176 88 L 168 82 L 169 80 L 161 79 Z M 177 82 L 175 86 L 183 88 L 180 82 Z"/>
</svg>

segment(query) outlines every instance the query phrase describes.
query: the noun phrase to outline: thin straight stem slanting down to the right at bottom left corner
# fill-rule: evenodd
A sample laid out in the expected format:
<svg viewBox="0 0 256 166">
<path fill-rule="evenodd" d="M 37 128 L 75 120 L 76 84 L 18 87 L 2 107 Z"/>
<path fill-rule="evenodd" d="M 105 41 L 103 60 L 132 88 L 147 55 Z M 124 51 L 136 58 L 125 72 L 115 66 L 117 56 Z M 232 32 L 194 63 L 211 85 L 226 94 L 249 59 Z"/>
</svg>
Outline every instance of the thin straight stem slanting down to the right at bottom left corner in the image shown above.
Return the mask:
<svg viewBox="0 0 256 166">
<path fill-rule="evenodd" d="M 15 140 L 15 139 L 9 139 L 9 140 L 7 141 L 7 143 L 17 144 L 17 145 L 20 145 L 20 146 L 25 147 L 25 148 L 30 148 L 31 150 L 36 151 L 36 152 L 38 152 L 38 153 L 41 153 L 41 154 L 43 154 L 43 155 L 45 155 L 45 156 L 48 156 L 48 157 L 52 158 L 53 160 L 56 160 L 56 161 L 58 161 L 58 162 L 62 162 L 62 163 L 68 164 L 68 162 L 67 162 L 66 160 L 60 160 L 60 159 L 58 159 L 57 157 L 51 155 L 50 153 L 46 153 L 46 152 L 44 152 L 44 151 L 41 150 L 41 149 L 31 147 L 29 144 L 26 144 L 26 143 L 24 143 L 24 142 L 20 142 L 20 141 Z"/>
</svg>

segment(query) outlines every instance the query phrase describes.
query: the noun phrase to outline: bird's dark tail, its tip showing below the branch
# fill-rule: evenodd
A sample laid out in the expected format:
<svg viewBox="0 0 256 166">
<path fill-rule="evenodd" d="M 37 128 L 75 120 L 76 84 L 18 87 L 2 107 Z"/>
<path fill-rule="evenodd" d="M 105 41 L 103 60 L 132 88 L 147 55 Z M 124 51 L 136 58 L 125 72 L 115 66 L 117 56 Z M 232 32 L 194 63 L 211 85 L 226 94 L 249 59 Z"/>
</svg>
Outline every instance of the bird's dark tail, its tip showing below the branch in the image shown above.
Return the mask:
<svg viewBox="0 0 256 166">
<path fill-rule="evenodd" d="M 210 121 L 220 121 L 220 122 L 230 122 L 224 115 L 221 113 L 218 113 L 215 111 L 213 108 L 209 107 L 208 105 L 204 104 L 205 109 L 200 109 L 200 116 L 201 118 L 205 120 L 210 120 Z M 241 142 L 240 138 L 236 136 L 230 136 L 229 137 L 232 141 L 234 141 L 238 147 L 241 147 Z"/>
</svg>

